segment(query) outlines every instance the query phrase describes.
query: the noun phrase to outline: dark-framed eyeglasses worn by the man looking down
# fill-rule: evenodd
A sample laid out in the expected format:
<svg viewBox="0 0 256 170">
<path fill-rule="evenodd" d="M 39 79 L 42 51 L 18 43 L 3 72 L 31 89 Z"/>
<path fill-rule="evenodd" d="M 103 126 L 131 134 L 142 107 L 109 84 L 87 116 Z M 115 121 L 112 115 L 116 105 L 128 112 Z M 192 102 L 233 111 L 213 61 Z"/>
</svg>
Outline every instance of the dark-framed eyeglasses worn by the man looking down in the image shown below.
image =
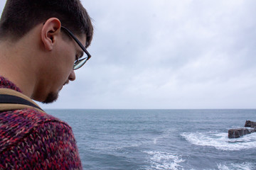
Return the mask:
<svg viewBox="0 0 256 170">
<path fill-rule="evenodd" d="M 74 35 L 73 33 L 71 33 L 70 30 L 68 30 L 68 28 L 65 28 L 65 27 L 63 27 L 63 26 L 61 26 L 61 28 L 63 28 L 63 30 L 65 30 L 65 31 L 68 33 L 68 35 L 70 35 L 70 36 L 75 40 L 75 42 L 78 43 L 78 45 L 82 48 L 82 51 L 84 51 L 85 54 L 87 55 L 87 56 L 85 56 L 85 57 L 80 57 L 80 58 L 78 58 L 78 59 L 75 60 L 73 69 L 74 69 L 74 70 L 75 70 L 75 69 L 79 69 L 79 68 L 82 67 L 83 64 L 85 64 L 85 62 L 87 62 L 87 61 L 90 59 L 90 57 L 92 57 L 92 56 L 90 55 L 89 52 L 87 52 L 87 50 L 86 50 L 85 47 L 82 45 L 82 43 L 78 40 L 78 38 L 76 38 L 75 35 Z"/>
</svg>

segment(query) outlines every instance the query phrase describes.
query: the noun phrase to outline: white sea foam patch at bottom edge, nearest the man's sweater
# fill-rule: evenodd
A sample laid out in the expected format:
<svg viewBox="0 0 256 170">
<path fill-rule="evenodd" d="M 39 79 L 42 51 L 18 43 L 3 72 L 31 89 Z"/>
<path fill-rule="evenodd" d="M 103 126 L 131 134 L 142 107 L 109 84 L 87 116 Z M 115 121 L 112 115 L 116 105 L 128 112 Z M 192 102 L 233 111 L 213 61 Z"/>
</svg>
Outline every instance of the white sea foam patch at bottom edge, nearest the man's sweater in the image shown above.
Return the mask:
<svg viewBox="0 0 256 170">
<path fill-rule="evenodd" d="M 149 162 L 151 167 L 149 169 L 171 169 L 171 170 L 182 170 L 183 167 L 180 165 L 184 162 L 181 157 L 175 154 L 169 154 L 167 152 L 146 152 L 149 154 Z"/>
</svg>

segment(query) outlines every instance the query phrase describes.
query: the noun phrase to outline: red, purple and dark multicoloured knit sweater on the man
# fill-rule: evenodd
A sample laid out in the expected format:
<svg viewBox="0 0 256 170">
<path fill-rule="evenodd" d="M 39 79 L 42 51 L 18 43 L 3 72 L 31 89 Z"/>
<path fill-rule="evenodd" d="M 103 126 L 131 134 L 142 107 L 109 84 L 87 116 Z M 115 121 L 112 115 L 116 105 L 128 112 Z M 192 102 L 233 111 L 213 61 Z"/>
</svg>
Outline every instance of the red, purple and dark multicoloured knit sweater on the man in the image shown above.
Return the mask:
<svg viewBox="0 0 256 170">
<path fill-rule="evenodd" d="M 21 92 L 4 77 L 0 88 Z M 0 169 L 82 169 L 70 126 L 35 109 L 0 112 Z"/>
</svg>

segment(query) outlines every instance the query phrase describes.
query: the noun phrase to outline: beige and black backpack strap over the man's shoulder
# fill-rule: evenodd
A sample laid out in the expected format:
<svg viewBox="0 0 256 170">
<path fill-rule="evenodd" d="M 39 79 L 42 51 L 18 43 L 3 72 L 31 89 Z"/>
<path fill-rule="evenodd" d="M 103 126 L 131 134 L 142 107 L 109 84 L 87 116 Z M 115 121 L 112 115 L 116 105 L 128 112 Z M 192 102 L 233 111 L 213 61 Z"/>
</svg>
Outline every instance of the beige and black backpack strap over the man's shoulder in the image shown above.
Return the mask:
<svg viewBox="0 0 256 170">
<path fill-rule="evenodd" d="M 35 108 L 38 111 L 44 112 L 31 98 L 12 89 L 0 89 L 0 98 L 4 99 L 0 101 L 0 111 Z M 15 99 L 15 101 L 13 102 L 12 99 Z"/>
</svg>

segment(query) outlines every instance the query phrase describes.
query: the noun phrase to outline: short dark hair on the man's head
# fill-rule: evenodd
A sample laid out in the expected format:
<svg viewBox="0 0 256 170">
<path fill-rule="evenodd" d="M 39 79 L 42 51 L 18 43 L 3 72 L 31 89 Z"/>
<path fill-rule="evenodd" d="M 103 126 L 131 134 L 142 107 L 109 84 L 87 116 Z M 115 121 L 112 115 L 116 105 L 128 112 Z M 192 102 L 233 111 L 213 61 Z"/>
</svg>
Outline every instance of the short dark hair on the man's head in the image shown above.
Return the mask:
<svg viewBox="0 0 256 170">
<path fill-rule="evenodd" d="M 80 0 L 7 0 L 0 19 L 0 39 L 19 40 L 29 30 L 58 18 L 76 35 L 86 35 L 86 47 L 93 35 L 91 18 Z"/>
</svg>

